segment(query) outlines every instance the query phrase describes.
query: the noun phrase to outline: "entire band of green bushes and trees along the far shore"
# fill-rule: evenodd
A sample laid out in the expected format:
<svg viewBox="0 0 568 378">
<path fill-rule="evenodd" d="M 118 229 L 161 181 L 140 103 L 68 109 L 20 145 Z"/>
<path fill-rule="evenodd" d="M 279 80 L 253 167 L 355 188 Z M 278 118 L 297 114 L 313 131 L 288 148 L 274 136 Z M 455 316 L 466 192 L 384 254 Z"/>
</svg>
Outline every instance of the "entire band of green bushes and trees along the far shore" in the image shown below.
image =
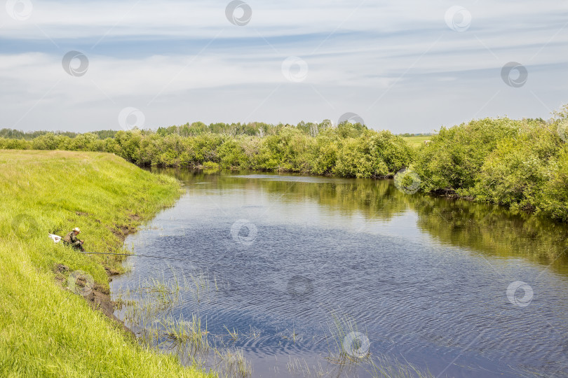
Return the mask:
<svg viewBox="0 0 568 378">
<path fill-rule="evenodd" d="M 485 118 L 442 127 L 427 144 L 344 122 L 191 123 L 158 130 L 0 137 L 0 148 L 101 151 L 137 165 L 392 177 L 405 185 L 568 221 L 568 105 L 550 120 Z M 0 133 L 1 134 L 1 133 Z M 414 173 L 409 176 L 409 173 Z"/>
</svg>

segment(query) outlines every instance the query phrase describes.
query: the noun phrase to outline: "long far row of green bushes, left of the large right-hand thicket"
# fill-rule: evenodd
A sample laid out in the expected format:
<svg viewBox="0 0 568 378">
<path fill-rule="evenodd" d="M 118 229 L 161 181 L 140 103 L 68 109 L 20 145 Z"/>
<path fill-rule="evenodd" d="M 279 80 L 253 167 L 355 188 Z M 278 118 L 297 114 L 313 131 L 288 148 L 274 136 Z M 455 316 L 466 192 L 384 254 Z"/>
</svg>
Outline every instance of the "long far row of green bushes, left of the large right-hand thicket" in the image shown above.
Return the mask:
<svg viewBox="0 0 568 378">
<path fill-rule="evenodd" d="M 197 131 L 199 127 L 119 131 L 104 139 L 94 133 L 46 133 L 32 140 L 0 138 L 0 148 L 101 151 L 137 165 L 374 178 L 393 176 L 410 165 L 414 155 L 402 137 L 358 123 L 334 127 L 324 122 L 316 130 L 315 124 L 276 125 L 266 127 L 262 137 Z"/>
</svg>

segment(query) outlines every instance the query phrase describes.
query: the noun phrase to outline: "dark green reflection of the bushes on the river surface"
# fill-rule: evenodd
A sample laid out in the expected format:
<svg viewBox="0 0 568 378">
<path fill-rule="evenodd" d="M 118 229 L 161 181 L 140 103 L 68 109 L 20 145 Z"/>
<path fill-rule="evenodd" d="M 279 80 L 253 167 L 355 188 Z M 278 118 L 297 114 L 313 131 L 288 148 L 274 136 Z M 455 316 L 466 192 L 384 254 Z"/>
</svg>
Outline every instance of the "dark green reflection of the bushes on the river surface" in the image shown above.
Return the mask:
<svg viewBox="0 0 568 378">
<path fill-rule="evenodd" d="M 503 258 L 522 257 L 568 274 L 568 226 L 539 216 L 511 214 L 503 207 L 427 195 L 406 195 L 391 180 L 329 179 L 275 174 L 205 174 L 180 169 L 153 172 L 187 184 L 208 181 L 217 189 L 241 186 L 277 195 L 291 203 L 315 200 L 330 211 L 390 221 L 408 210 L 417 214 L 420 230 L 442 243 Z"/>
</svg>

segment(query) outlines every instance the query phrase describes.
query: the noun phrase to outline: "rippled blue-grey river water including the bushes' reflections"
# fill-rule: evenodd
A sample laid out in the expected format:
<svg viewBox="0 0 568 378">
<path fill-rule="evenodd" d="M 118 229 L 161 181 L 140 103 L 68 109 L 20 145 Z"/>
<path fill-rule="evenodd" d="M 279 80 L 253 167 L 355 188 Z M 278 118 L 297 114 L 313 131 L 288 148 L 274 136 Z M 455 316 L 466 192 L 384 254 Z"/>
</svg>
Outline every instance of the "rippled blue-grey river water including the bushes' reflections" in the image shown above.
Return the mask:
<svg viewBox="0 0 568 378">
<path fill-rule="evenodd" d="M 567 225 L 389 180 L 159 172 L 185 193 L 125 243 L 168 259 L 111 292 L 183 276 L 168 316 L 252 377 L 568 376 Z"/>
</svg>

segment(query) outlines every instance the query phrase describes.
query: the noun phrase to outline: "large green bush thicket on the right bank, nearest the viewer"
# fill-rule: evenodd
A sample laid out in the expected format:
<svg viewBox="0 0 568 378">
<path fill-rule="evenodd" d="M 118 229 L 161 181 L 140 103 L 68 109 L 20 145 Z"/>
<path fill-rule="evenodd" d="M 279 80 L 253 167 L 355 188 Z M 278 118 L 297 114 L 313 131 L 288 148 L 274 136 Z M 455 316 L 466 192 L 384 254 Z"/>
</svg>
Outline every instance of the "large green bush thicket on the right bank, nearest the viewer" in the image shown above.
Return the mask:
<svg viewBox="0 0 568 378">
<path fill-rule="evenodd" d="M 568 221 L 567 144 L 557 119 L 485 118 L 442 128 L 412 164 L 422 190 Z"/>
</svg>

